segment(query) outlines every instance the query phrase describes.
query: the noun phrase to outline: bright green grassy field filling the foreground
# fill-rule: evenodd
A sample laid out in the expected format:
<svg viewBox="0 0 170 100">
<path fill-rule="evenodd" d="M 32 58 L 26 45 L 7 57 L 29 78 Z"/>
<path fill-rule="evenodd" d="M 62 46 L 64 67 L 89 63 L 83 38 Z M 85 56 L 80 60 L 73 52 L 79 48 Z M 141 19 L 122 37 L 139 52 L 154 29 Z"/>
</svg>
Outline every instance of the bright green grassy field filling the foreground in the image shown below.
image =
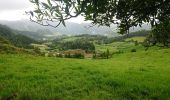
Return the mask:
<svg viewBox="0 0 170 100">
<path fill-rule="evenodd" d="M 170 49 L 111 59 L 0 54 L 0 99 L 169 100 Z"/>
</svg>

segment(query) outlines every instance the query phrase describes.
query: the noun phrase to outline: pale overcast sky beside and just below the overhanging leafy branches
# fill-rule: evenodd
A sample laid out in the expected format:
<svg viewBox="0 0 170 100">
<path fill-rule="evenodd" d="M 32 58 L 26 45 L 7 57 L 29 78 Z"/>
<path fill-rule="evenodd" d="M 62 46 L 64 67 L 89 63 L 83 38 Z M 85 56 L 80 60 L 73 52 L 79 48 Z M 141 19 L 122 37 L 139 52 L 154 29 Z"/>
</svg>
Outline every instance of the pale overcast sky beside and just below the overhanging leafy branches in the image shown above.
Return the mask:
<svg viewBox="0 0 170 100">
<path fill-rule="evenodd" d="M 25 11 L 33 10 L 34 5 L 29 0 L 0 0 L 0 20 L 17 21 L 29 19 Z M 83 17 L 77 17 L 69 22 L 83 23 Z"/>
</svg>

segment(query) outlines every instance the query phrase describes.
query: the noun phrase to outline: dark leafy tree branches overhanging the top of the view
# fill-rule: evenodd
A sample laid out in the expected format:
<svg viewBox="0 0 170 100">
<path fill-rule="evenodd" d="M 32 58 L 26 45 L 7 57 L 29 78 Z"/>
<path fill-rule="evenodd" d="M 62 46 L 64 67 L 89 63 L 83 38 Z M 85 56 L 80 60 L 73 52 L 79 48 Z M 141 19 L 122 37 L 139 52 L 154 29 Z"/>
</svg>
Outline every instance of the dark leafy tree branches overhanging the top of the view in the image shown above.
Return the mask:
<svg viewBox="0 0 170 100">
<path fill-rule="evenodd" d="M 36 5 L 30 19 L 44 26 L 57 27 L 65 20 L 82 15 L 93 24 L 118 24 L 119 33 L 150 23 L 152 27 L 170 20 L 170 0 L 30 0 Z M 51 22 L 58 22 L 51 24 Z"/>
</svg>

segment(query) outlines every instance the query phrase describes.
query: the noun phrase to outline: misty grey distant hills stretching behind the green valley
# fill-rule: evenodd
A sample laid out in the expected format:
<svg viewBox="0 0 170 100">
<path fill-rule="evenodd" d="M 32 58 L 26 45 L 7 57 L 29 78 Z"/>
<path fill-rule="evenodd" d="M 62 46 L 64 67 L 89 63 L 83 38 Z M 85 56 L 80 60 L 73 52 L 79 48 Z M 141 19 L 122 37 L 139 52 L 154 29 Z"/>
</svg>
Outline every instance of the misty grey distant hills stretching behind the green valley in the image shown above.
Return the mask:
<svg viewBox="0 0 170 100">
<path fill-rule="evenodd" d="M 29 34 L 30 37 L 34 37 L 36 34 L 36 38 L 46 38 L 46 39 L 54 39 L 61 35 L 81 35 L 81 34 L 90 34 L 90 35 L 103 35 L 109 37 L 116 37 L 117 34 L 117 25 L 111 25 L 111 27 L 105 26 L 93 26 L 90 27 L 90 23 L 73 23 L 73 22 L 66 22 L 66 27 L 60 25 L 57 28 L 41 26 L 39 24 L 33 23 L 29 20 L 20 20 L 20 21 L 0 21 L 1 24 L 7 25 L 12 29 L 16 29 L 19 31 L 31 31 L 32 33 Z M 141 29 L 149 30 L 150 26 L 144 24 L 142 28 L 136 27 L 131 28 L 130 31 L 138 31 Z M 27 32 L 25 33 L 27 34 Z M 28 35 L 27 35 L 28 36 Z"/>
</svg>

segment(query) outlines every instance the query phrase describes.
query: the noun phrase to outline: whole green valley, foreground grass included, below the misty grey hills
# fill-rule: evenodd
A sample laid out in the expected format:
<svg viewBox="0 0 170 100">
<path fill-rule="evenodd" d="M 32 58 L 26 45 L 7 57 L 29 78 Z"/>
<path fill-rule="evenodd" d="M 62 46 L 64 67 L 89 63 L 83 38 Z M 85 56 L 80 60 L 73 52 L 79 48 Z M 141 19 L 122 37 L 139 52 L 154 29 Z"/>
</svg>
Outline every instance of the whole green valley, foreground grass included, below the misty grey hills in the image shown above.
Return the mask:
<svg viewBox="0 0 170 100">
<path fill-rule="evenodd" d="M 16 32 L 0 31 L 2 100 L 170 99 L 170 49 L 145 46 L 149 31 L 41 41 Z"/>
</svg>

